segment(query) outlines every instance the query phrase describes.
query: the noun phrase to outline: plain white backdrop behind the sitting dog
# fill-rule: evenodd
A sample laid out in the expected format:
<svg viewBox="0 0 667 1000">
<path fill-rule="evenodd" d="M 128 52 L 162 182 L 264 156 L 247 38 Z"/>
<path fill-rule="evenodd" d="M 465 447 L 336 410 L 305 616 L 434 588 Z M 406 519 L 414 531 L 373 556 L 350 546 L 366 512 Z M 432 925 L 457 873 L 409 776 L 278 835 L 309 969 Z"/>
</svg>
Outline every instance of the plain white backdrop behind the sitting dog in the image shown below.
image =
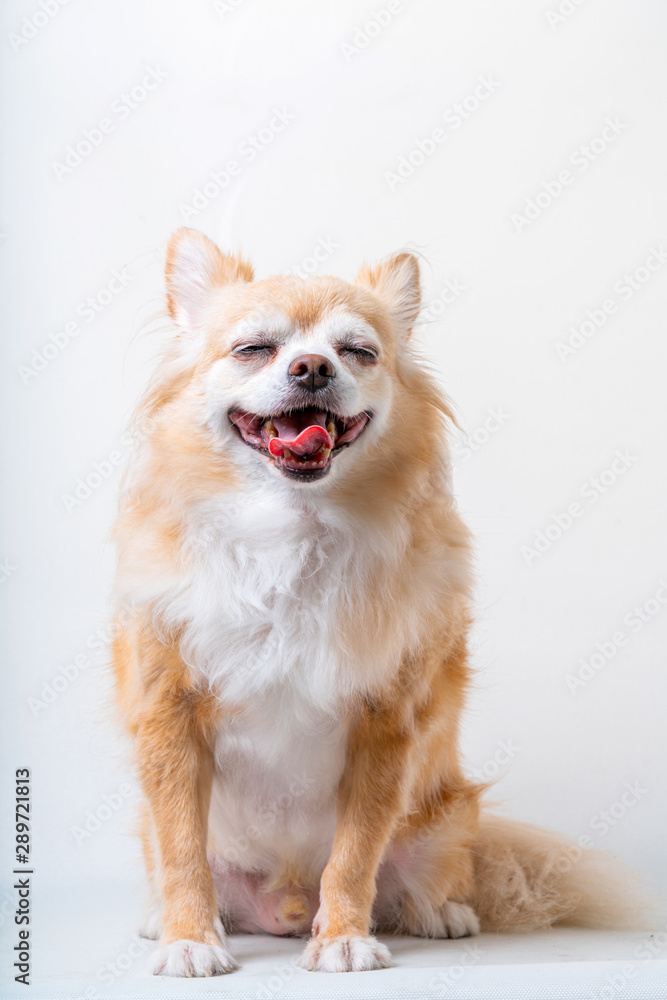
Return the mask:
<svg viewBox="0 0 667 1000">
<path fill-rule="evenodd" d="M 40 885 L 137 871 L 132 802 L 81 844 L 73 833 L 129 773 L 106 657 L 90 648 L 108 615 L 120 465 L 79 505 L 63 498 L 128 453 L 125 424 L 162 343 L 145 329 L 162 304 L 165 241 L 188 221 L 259 275 L 299 266 L 320 240 L 337 248 L 318 273 L 350 279 L 393 250 L 423 255 L 425 301 L 440 306 L 419 336 L 469 434 L 456 439 L 479 576 L 466 758 L 502 776 L 492 797 L 508 814 L 589 834 L 664 882 L 667 607 L 650 605 L 636 633 L 624 619 L 667 580 L 667 263 L 627 300 L 614 289 L 667 247 L 664 4 L 585 0 L 557 21 L 557 0 L 403 0 L 365 46 L 357 31 L 383 0 L 227 6 L 71 0 L 17 42 L 40 8 L 3 5 L 4 832 L 14 769 L 29 766 Z M 114 102 L 149 68 L 166 78 L 121 118 Z M 494 92 L 476 102 L 480 77 Z M 445 115 L 466 99 L 455 127 Z M 242 144 L 274 108 L 294 119 L 249 162 Z M 58 177 L 102 118 L 113 131 Z M 620 134 L 577 167 L 607 118 Z M 438 127 L 433 155 L 392 181 Z M 239 176 L 186 220 L 195 189 L 231 159 Z M 565 169 L 572 183 L 547 204 L 543 185 Z M 537 217 L 517 222 L 540 192 Z M 131 281 L 87 322 L 80 303 L 124 266 Z M 444 306 L 447 281 L 465 290 Z M 609 298 L 617 311 L 560 357 L 570 327 Z M 73 321 L 79 334 L 26 374 Z M 587 500 L 617 449 L 629 468 Z M 575 501 L 581 517 L 528 557 Z M 569 690 L 567 675 L 619 630 L 626 644 Z M 44 684 L 81 655 L 90 665 L 47 705 Z M 628 782 L 638 797 L 618 806 Z"/>
</svg>

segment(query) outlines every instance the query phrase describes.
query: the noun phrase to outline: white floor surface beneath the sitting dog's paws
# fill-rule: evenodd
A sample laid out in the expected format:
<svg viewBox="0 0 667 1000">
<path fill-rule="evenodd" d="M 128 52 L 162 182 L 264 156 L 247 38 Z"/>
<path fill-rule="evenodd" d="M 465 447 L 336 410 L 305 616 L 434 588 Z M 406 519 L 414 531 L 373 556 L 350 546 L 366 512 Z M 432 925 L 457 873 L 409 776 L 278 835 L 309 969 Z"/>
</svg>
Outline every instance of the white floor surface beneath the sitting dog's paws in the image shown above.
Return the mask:
<svg viewBox="0 0 667 1000">
<path fill-rule="evenodd" d="M 156 945 L 134 935 L 138 914 L 138 893 L 122 883 L 60 893 L 35 886 L 31 986 L 13 981 L 15 928 L 5 920 L 0 996 L 667 1000 L 667 933 L 659 930 L 650 935 L 559 929 L 463 941 L 383 937 L 393 968 L 343 976 L 297 969 L 300 940 L 244 935 L 231 939 L 239 971 L 215 979 L 175 980 L 149 975 L 148 958 Z"/>
</svg>

